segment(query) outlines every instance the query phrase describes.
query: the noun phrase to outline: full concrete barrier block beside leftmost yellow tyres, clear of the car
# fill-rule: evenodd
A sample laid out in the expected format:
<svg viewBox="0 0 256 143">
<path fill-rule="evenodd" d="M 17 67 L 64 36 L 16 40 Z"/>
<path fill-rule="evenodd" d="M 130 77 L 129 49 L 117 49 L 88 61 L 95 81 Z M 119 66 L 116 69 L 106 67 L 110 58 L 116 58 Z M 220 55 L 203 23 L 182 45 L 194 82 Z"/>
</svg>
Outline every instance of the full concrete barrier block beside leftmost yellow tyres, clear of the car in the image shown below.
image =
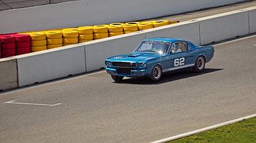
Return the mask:
<svg viewBox="0 0 256 143">
<path fill-rule="evenodd" d="M 70 48 L 71 47 L 71 48 Z M 80 74 L 85 69 L 85 47 L 67 46 L 17 57 L 18 86 Z"/>
</svg>

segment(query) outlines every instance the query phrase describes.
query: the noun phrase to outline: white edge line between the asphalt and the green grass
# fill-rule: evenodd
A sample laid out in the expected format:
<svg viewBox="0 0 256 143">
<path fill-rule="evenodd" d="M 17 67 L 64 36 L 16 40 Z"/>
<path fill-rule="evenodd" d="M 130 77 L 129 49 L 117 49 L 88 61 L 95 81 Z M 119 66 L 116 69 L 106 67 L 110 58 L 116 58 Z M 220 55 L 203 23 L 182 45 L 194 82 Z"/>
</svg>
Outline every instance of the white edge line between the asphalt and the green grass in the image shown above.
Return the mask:
<svg viewBox="0 0 256 143">
<path fill-rule="evenodd" d="M 248 115 L 248 116 L 245 116 L 243 118 L 238 118 L 238 119 L 235 119 L 235 120 L 230 120 L 228 122 L 222 122 L 220 124 L 217 124 L 217 125 L 212 125 L 212 126 L 209 126 L 209 127 L 204 127 L 202 129 L 199 129 L 199 130 L 193 130 L 191 132 L 186 132 L 186 133 L 183 133 L 181 135 L 176 135 L 176 136 L 172 136 L 172 137 L 167 137 L 165 139 L 160 139 L 160 140 L 157 140 L 157 141 L 154 141 L 154 142 L 151 142 L 151 143 L 162 143 L 162 142 L 169 142 L 169 141 L 173 141 L 175 139 L 181 139 L 183 137 L 188 137 L 188 136 L 191 136 L 191 135 L 196 135 L 200 132 L 204 132 L 206 130 L 212 130 L 212 129 L 215 129 L 217 127 L 223 127 L 225 125 L 230 125 L 230 124 L 233 124 L 235 122 L 239 122 L 241 120 L 246 120 L 246 119 L 249 119 L 249 118 L 254 118 L 256 117 L 256 114 L 253 114 L 253 115 Z"/>
</svg>

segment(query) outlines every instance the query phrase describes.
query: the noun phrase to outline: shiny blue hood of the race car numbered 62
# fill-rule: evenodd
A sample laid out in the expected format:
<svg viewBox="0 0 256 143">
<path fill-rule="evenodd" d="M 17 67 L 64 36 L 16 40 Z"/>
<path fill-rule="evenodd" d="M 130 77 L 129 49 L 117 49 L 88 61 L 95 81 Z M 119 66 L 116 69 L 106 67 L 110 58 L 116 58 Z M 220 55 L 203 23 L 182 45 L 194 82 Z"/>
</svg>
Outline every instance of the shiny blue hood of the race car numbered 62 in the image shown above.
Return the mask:
<svg viewBox="0 0 256 143">
<path fill-rule="evenodd" d="M 107 60 L 111 62 L 146 62 L 149 59 L 159 58 L 160 54 L 156 52 L 132 52 L 127 55 L 117 55 Z"/>
</svg>

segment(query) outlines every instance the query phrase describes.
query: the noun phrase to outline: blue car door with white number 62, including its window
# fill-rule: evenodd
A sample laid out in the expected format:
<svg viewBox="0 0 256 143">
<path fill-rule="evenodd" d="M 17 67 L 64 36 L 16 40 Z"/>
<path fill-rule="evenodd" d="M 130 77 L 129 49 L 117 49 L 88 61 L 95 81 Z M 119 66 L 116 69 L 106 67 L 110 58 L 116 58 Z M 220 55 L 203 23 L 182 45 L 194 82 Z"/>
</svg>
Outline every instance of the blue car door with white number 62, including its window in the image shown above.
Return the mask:
<svg viewBox="0 0 256 143">
<path fill-rule="evenodd" d="M 164 71 L 173 71 L 186 67 L 193 67 L 193 55 L 188 50 L 188 44 L 185 41 L 174 42 L 169 51 L 169 67 Z"/>
</svg>

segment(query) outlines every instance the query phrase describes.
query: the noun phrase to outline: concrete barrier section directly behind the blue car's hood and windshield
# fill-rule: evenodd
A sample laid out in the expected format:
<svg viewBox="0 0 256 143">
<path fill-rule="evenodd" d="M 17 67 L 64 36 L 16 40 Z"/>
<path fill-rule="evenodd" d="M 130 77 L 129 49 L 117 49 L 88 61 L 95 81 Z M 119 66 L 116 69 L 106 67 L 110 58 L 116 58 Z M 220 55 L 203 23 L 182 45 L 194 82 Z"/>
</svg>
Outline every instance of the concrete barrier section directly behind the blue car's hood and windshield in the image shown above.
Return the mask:
<svg viewBox="0 0 256 143">
<path fill-rule="evenodd" d="M 144 39 L 145 35 L 138 32 L 85 44 L 87 71 L 105 67 L 104 62 L 107 57 L 132 52 Z"/>
</svg>

